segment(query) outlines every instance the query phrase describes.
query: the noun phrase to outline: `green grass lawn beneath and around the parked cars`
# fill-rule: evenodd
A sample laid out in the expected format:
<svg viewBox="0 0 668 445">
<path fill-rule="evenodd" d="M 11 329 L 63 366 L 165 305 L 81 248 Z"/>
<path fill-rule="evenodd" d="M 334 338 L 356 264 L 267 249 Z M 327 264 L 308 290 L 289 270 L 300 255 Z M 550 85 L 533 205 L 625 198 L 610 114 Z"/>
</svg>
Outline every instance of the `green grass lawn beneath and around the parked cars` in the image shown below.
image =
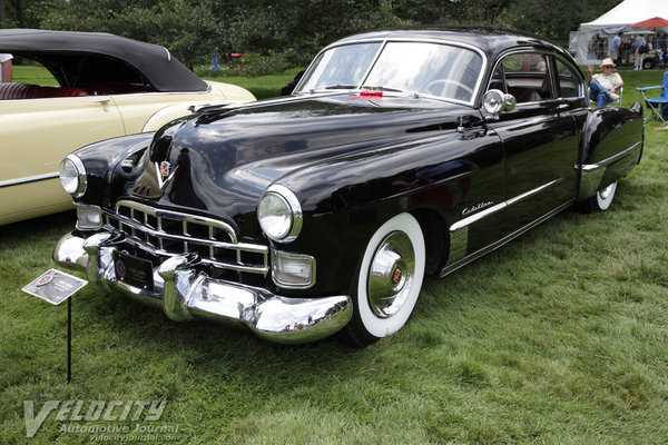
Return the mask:
<svg viewBox="0 0 668 445">
<path fill-rule="evenodd" d="M 660 76 L 622 72 L 625 105 Z M 362 350 L 177 324 L 87 287 L 73 297 L 67 384 L 66 306 L 20 289 L 53 267 L 73 216 L 0 227 L 0 443 L 80 444 L 91 434 L 62 427 L 137 426 L 51 414 L 26 437 L 24 400 L 67 399 L 166 399 L 153 424 L 194 444 L 667 443 L 668 131 L 658 126 L 608 211 L 566 211 L 429 279 L 407 326 Z"/>
</svg>

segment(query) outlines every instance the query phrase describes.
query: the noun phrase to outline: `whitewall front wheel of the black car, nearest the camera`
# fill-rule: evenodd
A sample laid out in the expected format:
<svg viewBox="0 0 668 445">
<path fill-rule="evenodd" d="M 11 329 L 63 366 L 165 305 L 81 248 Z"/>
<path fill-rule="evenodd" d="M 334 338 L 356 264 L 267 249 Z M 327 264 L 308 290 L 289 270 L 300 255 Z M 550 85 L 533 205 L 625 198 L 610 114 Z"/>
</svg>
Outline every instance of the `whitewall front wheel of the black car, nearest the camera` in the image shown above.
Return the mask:
<svg viewBox="0 0 668 445">
<path fill-rule="evenodd" d="M 353 281 L 354 313 L 343 332 L 353 345 L 370 345 L 405 325 L 420 296 L 424 265 L 424 237 L 412 215 L 397 215 L 376 230 Z"/>
</svg>

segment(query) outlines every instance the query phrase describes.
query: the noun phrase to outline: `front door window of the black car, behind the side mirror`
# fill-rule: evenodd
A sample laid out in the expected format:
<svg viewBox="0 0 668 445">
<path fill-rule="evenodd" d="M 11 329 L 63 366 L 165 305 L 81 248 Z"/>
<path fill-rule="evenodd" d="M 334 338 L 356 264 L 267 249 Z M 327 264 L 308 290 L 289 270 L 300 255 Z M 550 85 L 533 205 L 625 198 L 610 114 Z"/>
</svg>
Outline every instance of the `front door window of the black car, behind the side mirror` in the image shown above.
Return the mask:
<svg viewBox="0 0 668 445">
<path fill-rule="evenodd" d="M 515 52 L 507 56 L 499 66 L 504 77 L 505 92 L 514 96 L 518 103 L 551 99 L 548 59 L 538 52 Z M 499 70 L 499 68 L 497 69 Z M 497 82 L 494 71 L 492 82 Z M 502 89 L 502 88 L 500 88 Z"/>
</svg>

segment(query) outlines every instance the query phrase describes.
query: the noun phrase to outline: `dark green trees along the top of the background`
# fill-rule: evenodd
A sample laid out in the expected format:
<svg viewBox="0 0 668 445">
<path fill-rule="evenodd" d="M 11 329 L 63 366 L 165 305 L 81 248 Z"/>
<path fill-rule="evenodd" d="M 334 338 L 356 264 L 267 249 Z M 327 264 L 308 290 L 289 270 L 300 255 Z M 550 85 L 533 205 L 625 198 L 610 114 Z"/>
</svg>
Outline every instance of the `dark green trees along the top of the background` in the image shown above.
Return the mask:
<svg viewBox="0 0 668 445">
<path fill-rule="evenodd" d="M 356 32 L 494 26 L 568 38 L 621 0 L 0 0 L 1 28 L 111 32 L 169 48 L 186 65 L 253 51 L 289 66 Z"/>
</svg>

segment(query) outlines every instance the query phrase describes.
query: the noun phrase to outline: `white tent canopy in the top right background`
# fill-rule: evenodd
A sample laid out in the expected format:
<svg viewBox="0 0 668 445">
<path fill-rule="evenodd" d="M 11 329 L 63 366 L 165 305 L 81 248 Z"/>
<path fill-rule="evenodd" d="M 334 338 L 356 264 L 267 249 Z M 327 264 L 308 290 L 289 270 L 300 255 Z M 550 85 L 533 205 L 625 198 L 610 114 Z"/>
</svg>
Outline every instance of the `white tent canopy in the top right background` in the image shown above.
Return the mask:
<svg viewBox="0 0 668 445">
<path fill-rule="evenodd" d="M 668 0 L 623 0 L 598 19 L 581 23 L 577 43 L 574 48 L 569 46 L 569 49 L 576 52 L 576 60 L 580 65 L 600 63 L 601 59 L 608 57 L 607 48 L 610 47 L 615 34 L 630 31 L 629 24 L 652 17 L 668 19 Z M 668 31 L 667 28 L 659 29 Z M 642 30 L 642 28 L 632 28 L 632 30 Z M 591 48 L 593 46 L 590 46 L 592 39 L 599 40 L 606 50 L 598 53 L 593 51 Z M 600 57 L 601 53 L 605 56 Z"/>
</svg>

